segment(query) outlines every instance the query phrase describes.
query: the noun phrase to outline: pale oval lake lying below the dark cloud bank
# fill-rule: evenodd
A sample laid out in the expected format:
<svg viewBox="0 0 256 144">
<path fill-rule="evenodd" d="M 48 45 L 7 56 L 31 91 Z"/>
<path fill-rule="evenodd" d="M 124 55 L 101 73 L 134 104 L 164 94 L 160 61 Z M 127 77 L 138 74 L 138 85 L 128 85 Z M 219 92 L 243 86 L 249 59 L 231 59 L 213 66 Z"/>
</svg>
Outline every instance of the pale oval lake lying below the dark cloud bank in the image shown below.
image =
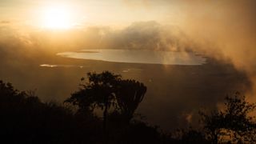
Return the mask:
<svg viewBox="0 0 256 144">
<path fill-rule="evenodd" d="M 202 65 L 206 58 L 192 52 L 155 51 L 155 50 L 80 50 L 62 52 L 58 56 L 66 58 L 100 60 L 105 62 L 145 63 L 162 65 Z"/>
</svg>

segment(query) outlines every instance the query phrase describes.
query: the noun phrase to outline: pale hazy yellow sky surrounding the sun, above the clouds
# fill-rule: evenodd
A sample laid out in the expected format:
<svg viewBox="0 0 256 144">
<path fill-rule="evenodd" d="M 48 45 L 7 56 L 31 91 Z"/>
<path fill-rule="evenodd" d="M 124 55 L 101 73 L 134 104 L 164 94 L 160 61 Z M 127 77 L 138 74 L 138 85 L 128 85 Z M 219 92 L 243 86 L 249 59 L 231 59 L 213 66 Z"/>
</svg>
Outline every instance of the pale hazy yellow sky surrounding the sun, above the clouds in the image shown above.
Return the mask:
<svg viewBox="0 0 256 144">
<path fill-rule="evenodd" d="M 177 3 L 177 2 L 176 2 Z M 177 22 L 178 6 L 170 1 L 94 0 L 3 0 L 1 21 L 40 26 L 44 11 L 64 7 L 78 25 L 128 26 L 131 22 Z"/>
</svg>

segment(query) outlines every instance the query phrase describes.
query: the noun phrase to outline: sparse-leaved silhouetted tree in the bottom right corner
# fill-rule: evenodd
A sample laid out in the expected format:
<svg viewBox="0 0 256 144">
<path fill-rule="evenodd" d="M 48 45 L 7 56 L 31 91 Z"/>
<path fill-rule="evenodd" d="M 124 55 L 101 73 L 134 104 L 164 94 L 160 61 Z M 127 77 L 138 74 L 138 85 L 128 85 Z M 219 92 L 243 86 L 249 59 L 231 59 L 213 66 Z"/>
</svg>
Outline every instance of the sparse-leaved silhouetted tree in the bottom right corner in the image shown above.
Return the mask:
<svg viewBox="0 0 256 144">
<path fill-rule="evenodd" d="M 210 114 L 200 112 L 204 129 L 213 143 L 218 142 L 256 142 L 255 122 L 248 114 L 255 104 L 246 102 L 239 93 L 226 97 L 225 109 L 214 110 Z"/>
</svg>

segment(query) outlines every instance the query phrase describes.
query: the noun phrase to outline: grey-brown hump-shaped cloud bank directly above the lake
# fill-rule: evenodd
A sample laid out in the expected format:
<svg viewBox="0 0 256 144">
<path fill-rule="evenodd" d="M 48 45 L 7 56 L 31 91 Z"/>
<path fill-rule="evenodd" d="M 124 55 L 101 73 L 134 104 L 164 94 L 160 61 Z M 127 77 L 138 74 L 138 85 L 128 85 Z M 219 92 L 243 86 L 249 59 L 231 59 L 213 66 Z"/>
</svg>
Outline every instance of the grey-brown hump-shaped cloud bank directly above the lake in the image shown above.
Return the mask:
<svg viewBox="0 0 256 144">
<path fill-rule="evenodd" d="M 189 38 L 178 26 L 162 25 L 155 21 L 133 22 L 121 30 L 91 26 L 79 33 L 75 40 L 79 49 L 138 49 L 138 50 L 191 50 Z M 190 42 L 190 45 L 188 45 Z"/>
</svg>

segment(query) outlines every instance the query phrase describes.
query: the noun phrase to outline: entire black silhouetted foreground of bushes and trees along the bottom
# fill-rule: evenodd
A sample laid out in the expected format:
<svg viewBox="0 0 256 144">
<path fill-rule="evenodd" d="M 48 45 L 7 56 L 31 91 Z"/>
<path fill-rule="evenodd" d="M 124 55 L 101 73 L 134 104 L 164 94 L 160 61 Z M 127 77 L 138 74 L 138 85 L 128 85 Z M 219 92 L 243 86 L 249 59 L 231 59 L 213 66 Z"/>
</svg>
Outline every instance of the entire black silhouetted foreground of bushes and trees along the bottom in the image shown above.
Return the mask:
<svg viewBox="0 0 256 144">
<path fill-rule="evenodd" d="M 104 71 L 89 73 L 88 81 L 63 104 L 41 102 L 32 92 L 15 90 L 0 81 L 0 136 L 8 143 L 253 143 L 255 104 L 236 93 L 222 110 L 200 111 L 201 129 L 165 134 L 134 112 L 146 86 Z"/>
</svg>

